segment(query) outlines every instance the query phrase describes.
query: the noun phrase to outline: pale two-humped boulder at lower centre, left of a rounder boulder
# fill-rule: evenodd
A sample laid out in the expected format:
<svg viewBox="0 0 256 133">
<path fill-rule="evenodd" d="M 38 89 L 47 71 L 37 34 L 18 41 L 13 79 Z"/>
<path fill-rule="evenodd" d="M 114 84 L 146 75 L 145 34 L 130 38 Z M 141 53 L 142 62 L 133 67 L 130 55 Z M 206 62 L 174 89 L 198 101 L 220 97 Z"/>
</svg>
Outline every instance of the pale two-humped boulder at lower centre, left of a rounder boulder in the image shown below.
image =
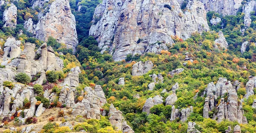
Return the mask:
<svg viewBox="0 0 256 133">
<path fill-rule="evenodd" d="M 154 105 L 162 104 L 163 103 L 163 97 L 160 97 L 159 95 L 152 97 L 149 97 L 145 104 L 143 105 L 143 112 L 147 112 L 147 114 L 150 113 L 150 108 L 152 108 Z"/>
</svg>

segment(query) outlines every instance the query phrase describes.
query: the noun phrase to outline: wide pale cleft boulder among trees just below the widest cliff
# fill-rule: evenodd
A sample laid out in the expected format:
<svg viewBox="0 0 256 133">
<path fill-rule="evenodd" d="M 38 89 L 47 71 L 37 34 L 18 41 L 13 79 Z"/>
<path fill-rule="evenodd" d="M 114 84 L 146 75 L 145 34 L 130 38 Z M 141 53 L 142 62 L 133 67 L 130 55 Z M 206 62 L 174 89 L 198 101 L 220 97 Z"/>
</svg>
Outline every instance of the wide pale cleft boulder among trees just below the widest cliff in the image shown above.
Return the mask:
<svg viewBox="0 0 256 133">
<path fill-rule="evenodd" d="M 132 66 L 131 75 L 133 75 L 133 76 L 144 75 L 149 70 L 153 69 L 153 66 L 154 65 L 153 65 L 152 61 L 145 61 L 144 64 L 141 61 L 139 61 Z"/>
</svg>

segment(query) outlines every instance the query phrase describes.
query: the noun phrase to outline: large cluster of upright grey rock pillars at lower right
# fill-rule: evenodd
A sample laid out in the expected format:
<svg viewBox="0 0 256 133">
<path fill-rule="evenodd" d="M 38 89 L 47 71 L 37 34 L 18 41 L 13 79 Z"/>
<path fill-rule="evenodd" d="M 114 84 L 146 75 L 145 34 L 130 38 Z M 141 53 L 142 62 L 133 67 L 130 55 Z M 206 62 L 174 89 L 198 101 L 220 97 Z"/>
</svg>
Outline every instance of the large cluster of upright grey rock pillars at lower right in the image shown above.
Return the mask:
<svg viewBox="0 0 256 133">
<path fill-rule="evenodd" d="M 209 118 L 209 111 L 216 108 L 218 103 L 217 97 L 222 97 L 217 107 L 217 113 L 213 114 L 212 119 L 217 119 L 218 122 L 228 119 L 229 121 L 237 121 L 241 124 L 247 123 L 242 103 L 238 101 L 236 88 L 226 78 L 219 78 L 216 85 L 209 83 L 204 94 L 206 95 L 203 111 L 204 118 Z M 228 97 L 227 101 L 223 98 L 225 94 Z"/>
</svg>

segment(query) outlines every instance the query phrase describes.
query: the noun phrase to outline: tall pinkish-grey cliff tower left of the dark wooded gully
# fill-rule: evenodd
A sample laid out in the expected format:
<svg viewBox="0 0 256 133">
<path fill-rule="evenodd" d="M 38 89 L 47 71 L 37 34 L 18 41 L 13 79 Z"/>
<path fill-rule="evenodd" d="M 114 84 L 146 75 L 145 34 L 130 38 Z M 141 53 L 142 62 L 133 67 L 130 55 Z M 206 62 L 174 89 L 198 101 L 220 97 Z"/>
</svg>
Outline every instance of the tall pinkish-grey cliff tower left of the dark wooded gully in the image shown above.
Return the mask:
<svg viewBox="0 0 256 133">
<path fill-rule="evenodd" d="M 40 7 L 43 4 L 41 1 L 43 0 L 37 0 L 33 7 L 36 5 Z M 45 15 L 44 10 L 47 10 Z M 76 20 L 71 13 L 69 1 L 55 0 L 44 10 L 38 14 L 39 21 L 33 30 L 35 37 L 47 41 L 49 36 L 52 36 L 58 42 L 66 44 L 67 48 L 75 51 L 78 44 Z"/>
</svg>

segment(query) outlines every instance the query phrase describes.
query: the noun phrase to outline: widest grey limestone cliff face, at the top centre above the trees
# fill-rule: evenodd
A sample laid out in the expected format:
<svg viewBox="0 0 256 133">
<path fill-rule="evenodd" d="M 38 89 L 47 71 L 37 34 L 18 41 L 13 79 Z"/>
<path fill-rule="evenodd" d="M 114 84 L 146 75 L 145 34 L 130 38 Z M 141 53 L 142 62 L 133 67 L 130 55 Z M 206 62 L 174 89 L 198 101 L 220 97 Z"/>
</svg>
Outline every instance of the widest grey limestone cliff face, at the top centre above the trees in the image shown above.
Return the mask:
<svg viewBox="0 0 256 133">
<path fill-rule="evenodd" d="M 171 36 L 187 39 L 209 30 L 201 2 L 189 1 L 186 8 L 183 12 L 177 0 L 103 0 L 89 34 L 103 51 L 110 48 L 115 61 L 128 54 L 159 53 L 174 43 Z"/>
</svg>

